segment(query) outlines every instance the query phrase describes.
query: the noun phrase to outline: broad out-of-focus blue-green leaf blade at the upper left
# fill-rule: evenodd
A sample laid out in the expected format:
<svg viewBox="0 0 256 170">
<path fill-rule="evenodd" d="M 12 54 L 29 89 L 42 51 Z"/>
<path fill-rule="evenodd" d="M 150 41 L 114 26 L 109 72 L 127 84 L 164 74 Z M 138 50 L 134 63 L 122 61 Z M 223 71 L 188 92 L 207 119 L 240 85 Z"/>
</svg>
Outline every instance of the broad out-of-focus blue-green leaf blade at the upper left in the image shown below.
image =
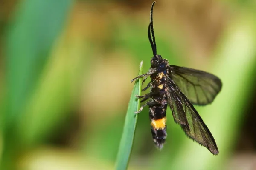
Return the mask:
<svg viewBox="0 0 256 170">
<path fill-rule="evenodd" d="M 13 22 L 6 30 L 6 128 L 23 119 L 26 102 L 40 79 L 71 5 L 71 0 L 26 0 L 17 5 Z"/>
</svg>

